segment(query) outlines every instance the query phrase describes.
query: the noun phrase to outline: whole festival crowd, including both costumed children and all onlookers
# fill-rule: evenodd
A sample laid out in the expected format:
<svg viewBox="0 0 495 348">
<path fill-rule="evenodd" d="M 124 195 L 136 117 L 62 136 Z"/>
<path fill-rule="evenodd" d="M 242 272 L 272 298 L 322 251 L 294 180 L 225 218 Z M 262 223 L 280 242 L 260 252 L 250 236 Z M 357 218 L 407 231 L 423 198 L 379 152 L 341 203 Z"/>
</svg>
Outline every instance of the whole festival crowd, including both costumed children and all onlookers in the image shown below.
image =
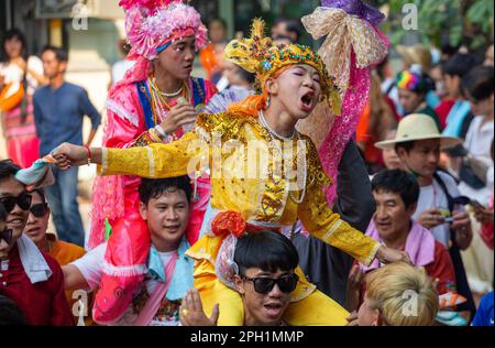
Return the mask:
<svg viewBox="0 0 495 348">
<path fill-rule="evenodd" d="M 67 53 L 2 42 L 0 324 L 493 326 L 493 45 L 391 47 L 361 0 L 232 41 L 182 1 L 120 6 L 101 148 Z"/>
</svg>

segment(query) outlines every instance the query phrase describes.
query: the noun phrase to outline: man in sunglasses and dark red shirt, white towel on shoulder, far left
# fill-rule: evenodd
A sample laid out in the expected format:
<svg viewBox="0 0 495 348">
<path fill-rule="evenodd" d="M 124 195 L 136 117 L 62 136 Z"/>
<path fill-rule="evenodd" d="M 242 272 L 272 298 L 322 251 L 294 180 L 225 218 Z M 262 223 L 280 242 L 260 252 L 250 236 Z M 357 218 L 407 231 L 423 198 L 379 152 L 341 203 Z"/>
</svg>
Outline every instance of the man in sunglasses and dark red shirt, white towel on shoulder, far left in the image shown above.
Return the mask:
<svg viewBox="0 0 495 348">
<path fill-rule="evenodd" d="M 0 226 L 0 294 L 21 309 L 30 325 L 73 325 L 58 263 L 23 235 L 32 196 L 15 178 L 21 170 L 0 161 L 0 203 L 7 229 Z"/>
</svg>

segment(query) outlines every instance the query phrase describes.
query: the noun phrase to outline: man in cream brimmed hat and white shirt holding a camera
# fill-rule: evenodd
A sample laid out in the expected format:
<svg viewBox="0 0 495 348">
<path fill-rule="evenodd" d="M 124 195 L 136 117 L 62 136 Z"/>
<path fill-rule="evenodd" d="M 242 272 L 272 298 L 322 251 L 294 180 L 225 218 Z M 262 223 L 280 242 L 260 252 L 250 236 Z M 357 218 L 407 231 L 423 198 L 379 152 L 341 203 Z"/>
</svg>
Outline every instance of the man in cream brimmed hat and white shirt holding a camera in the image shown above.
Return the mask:
<svg viewBox="0 0 495 348">
<path fill-rule="evenodd" d="M 450 175 L 438 171 L 440 151 L 461 142 L 461 139 L 440 134 L 435 121 L 427 115 L 416 113 L 399 122 L 394 140 L 375 145 L 383 150 L 395 148 L 405 170 L 417 177 L 420 194 L 413 218 L 449 249 L 458 292 L 468 298 L 463 309 L 474 314 L 474 302 L 460 255 L 460 250 L 468 249 L 473 239 L 471 219 L 463 206 L 469 199 L 461 196 Z"/>
</svg>

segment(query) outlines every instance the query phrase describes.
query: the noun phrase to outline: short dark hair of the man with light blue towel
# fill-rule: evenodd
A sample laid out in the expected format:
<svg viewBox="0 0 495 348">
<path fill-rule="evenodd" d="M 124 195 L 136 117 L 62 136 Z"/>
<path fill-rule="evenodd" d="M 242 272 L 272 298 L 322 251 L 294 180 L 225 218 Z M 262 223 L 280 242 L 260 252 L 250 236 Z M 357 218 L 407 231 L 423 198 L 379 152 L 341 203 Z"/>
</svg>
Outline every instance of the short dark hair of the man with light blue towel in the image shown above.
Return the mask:
<svg viewBox="0 0 495 348">
<path fill-rule="evenodd" d="M 187 202 L 190 203 L 193 189 L 190 178 L 187 175 L 168 178 L 143 178 L 139 188 L 140 199 L 143 204 L 147 205 L 150 199 L 158 198 L 169 188 L 184 191 Z"/>
</svg>

